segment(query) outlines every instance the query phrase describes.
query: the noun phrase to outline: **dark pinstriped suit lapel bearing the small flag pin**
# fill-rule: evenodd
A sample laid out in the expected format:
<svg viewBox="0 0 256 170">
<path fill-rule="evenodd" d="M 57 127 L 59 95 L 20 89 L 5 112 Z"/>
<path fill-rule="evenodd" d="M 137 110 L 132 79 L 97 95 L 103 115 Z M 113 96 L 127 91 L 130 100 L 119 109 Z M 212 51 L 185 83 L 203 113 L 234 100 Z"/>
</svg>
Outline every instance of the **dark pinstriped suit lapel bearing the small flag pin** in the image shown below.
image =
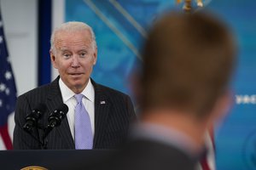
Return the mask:
<svg viewBox="0 0 256 170">
<path fill-rule="evenodd" d="M 95 88 L 95 136 L 94 148 L 102 143 L 104 130 L 108 124 L 108 113 L 111 106 L 108 96 L 102 91 L 102 87 L 91 80 Z"/>
</svg>

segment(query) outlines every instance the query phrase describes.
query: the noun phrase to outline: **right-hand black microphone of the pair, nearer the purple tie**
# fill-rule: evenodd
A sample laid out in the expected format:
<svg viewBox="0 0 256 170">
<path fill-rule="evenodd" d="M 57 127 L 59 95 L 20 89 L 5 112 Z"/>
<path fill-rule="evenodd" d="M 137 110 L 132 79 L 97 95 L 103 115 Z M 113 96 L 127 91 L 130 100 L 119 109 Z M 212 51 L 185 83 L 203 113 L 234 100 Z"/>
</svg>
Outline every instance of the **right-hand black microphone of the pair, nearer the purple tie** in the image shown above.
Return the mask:
<svg viewBox="0 0 256 170">
<path fill-rule="evenodd" d="M 44 138 L 49 134 L 49 132 L 54 128 L 61 125 L 61 121 L 67 115 L 68 107 L 65 104 L 59 105 L 54 112 L 49 114 L 48 122 L 49 124 L 44 130 Z"/>
</svg>

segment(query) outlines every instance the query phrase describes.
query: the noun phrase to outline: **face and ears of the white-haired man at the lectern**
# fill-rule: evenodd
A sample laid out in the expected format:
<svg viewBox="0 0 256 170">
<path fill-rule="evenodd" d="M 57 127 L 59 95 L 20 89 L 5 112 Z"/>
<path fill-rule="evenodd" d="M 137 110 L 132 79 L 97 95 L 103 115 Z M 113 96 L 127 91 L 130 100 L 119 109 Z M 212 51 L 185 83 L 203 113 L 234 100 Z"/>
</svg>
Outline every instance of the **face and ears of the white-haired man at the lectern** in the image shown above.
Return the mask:
<svg viewBox="0 0 256 170">
<path fill-rule="evenodd" d="M 96 64 L 96 49 L 92 48 L 90 31 L 57 32 L 50 59 L 67 87 L 74 93 L 81 93 Z"/>
</svg>

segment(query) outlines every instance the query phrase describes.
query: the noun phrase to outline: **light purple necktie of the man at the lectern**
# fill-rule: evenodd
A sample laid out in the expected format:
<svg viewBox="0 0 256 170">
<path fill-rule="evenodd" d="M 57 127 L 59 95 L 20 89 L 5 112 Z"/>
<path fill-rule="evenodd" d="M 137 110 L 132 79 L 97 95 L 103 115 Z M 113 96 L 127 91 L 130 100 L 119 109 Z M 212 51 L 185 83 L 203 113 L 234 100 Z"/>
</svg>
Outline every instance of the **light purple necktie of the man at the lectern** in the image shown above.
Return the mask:
<svg viewBox="0 0 256 170">
<path fill-rule="evenodd" d="M 75 148 L 76 150 L 90 150 L 93 146 L 93 136 L 90 126 L 90 116 L 84 108 L 83 94 L 75 94 L 78 105 L 75 107 Z"/>
</svg>

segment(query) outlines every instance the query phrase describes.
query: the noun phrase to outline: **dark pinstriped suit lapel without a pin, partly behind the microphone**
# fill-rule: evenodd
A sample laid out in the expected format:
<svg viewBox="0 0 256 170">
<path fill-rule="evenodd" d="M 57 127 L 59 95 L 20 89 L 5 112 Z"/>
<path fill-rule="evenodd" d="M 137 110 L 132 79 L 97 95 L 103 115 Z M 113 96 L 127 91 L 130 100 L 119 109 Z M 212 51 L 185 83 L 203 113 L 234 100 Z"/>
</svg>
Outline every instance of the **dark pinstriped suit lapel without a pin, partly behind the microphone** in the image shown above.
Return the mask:
<svg viewBox="0 0 256 170">
<path fill-rule="evenodd" d="M 59 105 L 63 104 L 61 98 L 61 90 L 59 87 L 59 79 L 60 77 L 57 77 L 55 81 L 50 84 L 49 87 L 49 95 L 46 101 L 49 113 L 53 112 Z M 60 133 L 61 140 L 67 143 L 68 148 L 74 149 L 73 137 L 70 132 L 69 124 L 67 122 L 67 117 L 63 119 L 60 127 L 56 127 L 56 131 Z"/>
</svg>

